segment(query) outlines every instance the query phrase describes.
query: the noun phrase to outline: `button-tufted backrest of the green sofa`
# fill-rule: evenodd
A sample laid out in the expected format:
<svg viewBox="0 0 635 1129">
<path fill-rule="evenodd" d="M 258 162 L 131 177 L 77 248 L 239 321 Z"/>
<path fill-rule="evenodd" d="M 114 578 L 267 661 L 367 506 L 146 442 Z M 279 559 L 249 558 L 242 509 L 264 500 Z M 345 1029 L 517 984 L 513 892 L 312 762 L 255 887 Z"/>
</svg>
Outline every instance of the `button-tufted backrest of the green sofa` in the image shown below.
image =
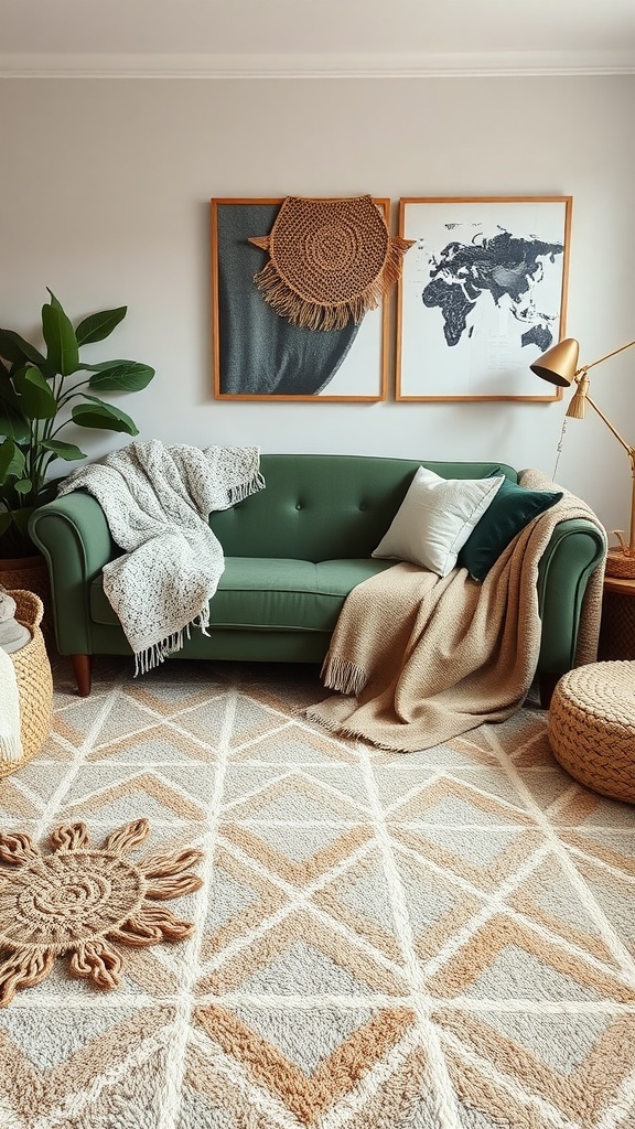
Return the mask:
<svg viewBox="0 0 635 1129">
<path fill-rule="evenodd" d="M 369 557 L 388 530 L 415 471 L 446 479 L 486 478 L 503 463 L 440 463 L 372 455 L 262 455 L 266 489 L 210 515 L 226 557 L 322 561 Z"/>
</svg>

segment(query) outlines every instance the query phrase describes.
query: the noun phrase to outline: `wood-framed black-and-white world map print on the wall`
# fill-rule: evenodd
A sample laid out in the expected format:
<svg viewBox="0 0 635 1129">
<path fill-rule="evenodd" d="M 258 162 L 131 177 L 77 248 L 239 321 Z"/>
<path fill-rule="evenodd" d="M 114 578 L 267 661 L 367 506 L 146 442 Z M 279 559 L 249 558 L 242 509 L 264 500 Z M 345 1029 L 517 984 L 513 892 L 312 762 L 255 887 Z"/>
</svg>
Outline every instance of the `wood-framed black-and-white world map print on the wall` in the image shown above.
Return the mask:
<svg viewBox="0 0 635 1129">
<path fill-rule="evenodd" d="M 400 200 L 397 400 L 562 397 L 530 365 L 565 335 L 572 202 Z"/>
</svg>

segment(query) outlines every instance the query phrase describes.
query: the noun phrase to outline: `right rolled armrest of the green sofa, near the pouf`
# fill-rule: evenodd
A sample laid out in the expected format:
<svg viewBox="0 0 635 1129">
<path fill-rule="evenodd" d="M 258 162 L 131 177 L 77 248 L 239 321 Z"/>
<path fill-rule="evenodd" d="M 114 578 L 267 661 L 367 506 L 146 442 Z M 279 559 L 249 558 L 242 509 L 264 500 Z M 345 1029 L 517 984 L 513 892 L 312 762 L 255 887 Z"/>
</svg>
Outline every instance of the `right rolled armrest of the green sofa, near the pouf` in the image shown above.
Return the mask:
<svg viewBox="0 0 635 1129">
<path fill-rule="evenodd" d="M 574 666 L 582 601 L 604 555 L 604 537 L 591 522 L 574 518 L 554 530 L 538 570 L 540 673 L 563 674 Z"/>
</svg>

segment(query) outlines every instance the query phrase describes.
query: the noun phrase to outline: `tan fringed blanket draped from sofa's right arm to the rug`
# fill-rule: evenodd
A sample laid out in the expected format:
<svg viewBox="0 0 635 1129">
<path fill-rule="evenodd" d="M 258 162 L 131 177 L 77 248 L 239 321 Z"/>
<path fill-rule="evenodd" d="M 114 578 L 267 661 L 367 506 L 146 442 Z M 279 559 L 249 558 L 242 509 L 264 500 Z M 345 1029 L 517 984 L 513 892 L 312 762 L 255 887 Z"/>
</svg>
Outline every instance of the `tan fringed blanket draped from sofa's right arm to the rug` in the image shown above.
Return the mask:
<svg viewBox="0 0 635 1129">
<path fill-rule="evenodd" d="M 527 471 L 521 485 L 563 489 L 539 471 Z M 340 693 L 311 707 L 308 719 L 408 753 L 510 717 L 538 664 L 540 558 L 556 524 L 577 517 L 604 533 L 589 506 L 565 491 L 517 534 L 482 584 L 464 568 L 440 578 L 401 563 L 354 588 L 322 667 L 324 684 Z M 603 571 L 586 586 L 579 665 L 597 657 Z"/>
</svg>

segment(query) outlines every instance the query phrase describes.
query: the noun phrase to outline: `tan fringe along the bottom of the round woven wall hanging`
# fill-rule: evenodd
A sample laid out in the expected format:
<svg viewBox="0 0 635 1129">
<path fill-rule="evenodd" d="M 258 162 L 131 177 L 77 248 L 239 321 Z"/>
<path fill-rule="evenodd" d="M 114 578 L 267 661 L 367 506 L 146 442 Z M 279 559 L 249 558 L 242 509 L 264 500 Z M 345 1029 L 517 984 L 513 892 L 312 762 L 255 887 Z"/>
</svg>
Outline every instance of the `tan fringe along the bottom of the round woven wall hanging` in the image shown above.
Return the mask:
<svg viewBox="0 0 635 1129">
<path fill-rule="evenodd" d="M 253 242 L 253 240 L 252 240 Z M 270 259 L 253 280 L 262 297 L 280 317 L 304 330 L 342 330 L 353 318 L 357 325 L 369 309 L 376 309 L 401 275 L 403 255 L 412 239 L 394 236 L 389 240 L 386 259 L 377 277 L 360 294 L 338 304 L 311 301 L 285 282 Z"/>
</svg>

